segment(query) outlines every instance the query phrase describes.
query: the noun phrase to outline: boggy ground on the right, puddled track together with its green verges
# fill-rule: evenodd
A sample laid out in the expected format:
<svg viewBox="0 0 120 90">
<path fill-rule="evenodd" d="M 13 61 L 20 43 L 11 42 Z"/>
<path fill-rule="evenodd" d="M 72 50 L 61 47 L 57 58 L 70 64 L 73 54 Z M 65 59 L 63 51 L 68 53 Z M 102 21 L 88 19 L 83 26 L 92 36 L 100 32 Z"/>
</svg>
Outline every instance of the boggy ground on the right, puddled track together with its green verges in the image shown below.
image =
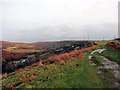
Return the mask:
<svg viewBox="0 0 120 90">
<path fill-rule="evenodd" d="M 97 67 L 101 79 L 110 85 L 109 88 L 120 88 L 120 51 L 114 48 L 116 45 L 111 47 L 108 44 L 102 43 L 88 58 Z"/>
</svg>

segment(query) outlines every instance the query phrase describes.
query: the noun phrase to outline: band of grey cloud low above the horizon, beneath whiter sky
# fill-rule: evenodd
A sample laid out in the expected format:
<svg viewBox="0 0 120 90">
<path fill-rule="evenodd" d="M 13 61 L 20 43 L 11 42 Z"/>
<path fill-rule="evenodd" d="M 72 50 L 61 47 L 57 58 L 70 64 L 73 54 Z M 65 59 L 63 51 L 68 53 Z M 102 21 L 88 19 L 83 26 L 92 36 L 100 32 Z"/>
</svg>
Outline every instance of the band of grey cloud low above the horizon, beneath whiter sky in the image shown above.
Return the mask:
<svg viewBox="0 0 120 90">
<path fill-rule="evenodd" d="M 19 33 L 19 34 L 18 34 Z M 65 25 L 45 26 L 30 31 L 15 31 L 4 33 L 4 40 L 11 41 L 49 41 L 65 39 L 112 39 L 117 36 L 116 24 L 86 25 L 83 27 L 69 27 Z M 9 36 L 9 37 L 8 37 Z"/>
</svg>

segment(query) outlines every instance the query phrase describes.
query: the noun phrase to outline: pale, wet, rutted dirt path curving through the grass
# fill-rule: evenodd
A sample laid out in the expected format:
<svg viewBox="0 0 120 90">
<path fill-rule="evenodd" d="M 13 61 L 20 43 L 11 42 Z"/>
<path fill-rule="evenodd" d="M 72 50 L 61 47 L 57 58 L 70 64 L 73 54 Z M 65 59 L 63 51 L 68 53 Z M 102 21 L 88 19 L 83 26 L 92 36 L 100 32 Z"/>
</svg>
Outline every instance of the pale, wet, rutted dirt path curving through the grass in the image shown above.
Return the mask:
<svg viewBox="0 0 120 90">
<path fill-rule="evenodd" d="M 91 60 L 95 53 L 101 54 L 105 50 L 106 49 L 94 50 L 90 53 L 88 58 Z M 97 66 L 98 74 L 101 75 L 103 79 L 112 82 L 111 88 L 120 88 L 120 66 L 102 55 L 100 57 L 104 62 L 102 62 L 100 66 Z M 92 62 L 92 65 L 96 64 Z"/>
</svg>

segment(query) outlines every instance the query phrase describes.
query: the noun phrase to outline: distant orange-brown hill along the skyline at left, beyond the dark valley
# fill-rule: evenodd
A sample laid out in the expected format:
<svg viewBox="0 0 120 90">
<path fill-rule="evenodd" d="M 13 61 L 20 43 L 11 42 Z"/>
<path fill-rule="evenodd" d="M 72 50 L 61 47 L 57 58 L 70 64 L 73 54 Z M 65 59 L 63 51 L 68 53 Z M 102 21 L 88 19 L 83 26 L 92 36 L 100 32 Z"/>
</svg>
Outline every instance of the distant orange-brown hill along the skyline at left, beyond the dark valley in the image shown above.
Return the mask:
<svg viewBox="0 0 120 90">
<path fill-rule="evenodd" d="M 22 43 L 22 42 L 8 42 L 8 41 L 0 41 L 0 48 L 11 51 L 18 49 L 45 49 L 54 46 L 64 46 L 64 44 L 76 43 L 79 41 L 53 41 L 53 42 L 33 42 L 33 43 Z M 81 41 L 82 42 L 82 41 Z M 85 41 L 84 41 L 85 42 Z"/>
</svg>

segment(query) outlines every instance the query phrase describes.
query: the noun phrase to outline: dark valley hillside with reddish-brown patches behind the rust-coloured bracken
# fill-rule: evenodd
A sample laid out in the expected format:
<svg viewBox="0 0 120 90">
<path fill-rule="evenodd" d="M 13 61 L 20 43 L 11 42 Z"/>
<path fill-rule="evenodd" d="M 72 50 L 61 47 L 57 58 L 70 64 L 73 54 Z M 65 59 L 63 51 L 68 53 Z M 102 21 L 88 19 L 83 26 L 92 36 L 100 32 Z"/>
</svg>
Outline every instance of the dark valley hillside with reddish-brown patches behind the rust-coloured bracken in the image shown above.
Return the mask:
<svg viewBox="0 0 120 90">
<path fill-rule="evenodd" d="M 93 42 L 88 41 L 62 41 L 52 45 L 48 45 L 44 50 L 29 50 L 21 49 L 4 50 L 2 53 L 2 69 L 3 73 L 10 73 L 19 68 L 32 65 L 38 61 L 43 60 L 45 63 L 50 63 L 48 57 L 56 54 L 68 53 L 74 50 L 87 48 L 94 45 Z M 34 51 L 33 51 L 34 50 Z M 28 52 L 27 52 L 28 51 Z"/>
</svg>

